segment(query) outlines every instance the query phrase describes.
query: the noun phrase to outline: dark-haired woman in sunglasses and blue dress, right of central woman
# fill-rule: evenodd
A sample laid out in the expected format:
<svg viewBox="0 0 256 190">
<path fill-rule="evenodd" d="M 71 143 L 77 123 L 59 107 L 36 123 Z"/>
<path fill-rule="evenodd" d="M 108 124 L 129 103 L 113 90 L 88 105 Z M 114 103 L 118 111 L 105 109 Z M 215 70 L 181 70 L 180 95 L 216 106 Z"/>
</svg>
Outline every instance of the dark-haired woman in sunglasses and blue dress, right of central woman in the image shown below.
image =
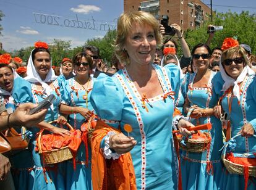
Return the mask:
<svg viewBox="0 0 256 190">
<path fill-rule="evenodd" d="M 211 123 L 211 130 L 202 130 L 210 135 L 206 150 L 182 150 L 181 173 L 184 189 L 218 189 L 222 185 L 221 152 L 223 146 L 221 122 L 213 115 L 213 107 L 218 103 L 218 96 L 213 91 L 215 72 L 209 67 L 211 50 L 206 44 L 197 44 L 192 49 L 192 64 L 197 68 L 186 75 L 182 83 L 182 94 L 186 99 L 184 111 L 194 125 Z M 198 131 L 199 134 L 199 131 Z M 194 134 L 191 138 L 196 138 Z M 206 140 L 206 139 L 205 139 Z M 196 142 L 195 142 L 196 143 Z M 196 144 L 194 145 L 196 146 Z M 197 149 L 197 148 L 196 148 Z"/>
</svg>

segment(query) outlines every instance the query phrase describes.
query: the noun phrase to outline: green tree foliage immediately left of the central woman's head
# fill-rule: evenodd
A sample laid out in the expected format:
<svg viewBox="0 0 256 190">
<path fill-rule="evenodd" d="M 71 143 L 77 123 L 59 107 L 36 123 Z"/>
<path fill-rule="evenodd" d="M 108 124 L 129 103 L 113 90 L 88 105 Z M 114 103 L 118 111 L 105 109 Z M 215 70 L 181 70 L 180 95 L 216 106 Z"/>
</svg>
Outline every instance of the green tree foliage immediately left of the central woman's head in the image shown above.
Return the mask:
<svg viewBox="0 0 256 190">
<path fill-rule="evenodd" d="M 88 39 L 85 46 L 96 46 L 100 49 L 100 56 L 108 65 L 114 54 L 114 42 L 116 39 L 116 30 L 109 30 L 103 38 Z"/>
</svg>

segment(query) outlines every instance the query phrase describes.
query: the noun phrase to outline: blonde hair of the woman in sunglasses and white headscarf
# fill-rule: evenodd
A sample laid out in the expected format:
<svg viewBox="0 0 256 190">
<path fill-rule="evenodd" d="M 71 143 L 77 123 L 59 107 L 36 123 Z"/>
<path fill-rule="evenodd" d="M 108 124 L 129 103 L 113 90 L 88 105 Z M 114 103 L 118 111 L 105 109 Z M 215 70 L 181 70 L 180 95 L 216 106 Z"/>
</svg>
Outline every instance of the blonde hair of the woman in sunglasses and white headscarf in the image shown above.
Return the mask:
<svg viewBox="0 0 256 190">
<path fill-rule="evenodd" d="M 221 64 L 223 65 L 223 61 L 225 59 L 230 59 L 231 57 L 233 57 L 234 54 L 238 54 L 244 57 L 244 66 L 248 65 L 249 67 L 252 67 L 252 65 L 250 64 L 250 60 L 246 56 L 244 47 L 241 47 L 241 46 L 231 47 L 223 51 L 221 56 Z M 223 65 L 223 68 L 224 68 L 224 65 Z"/>
</svg>

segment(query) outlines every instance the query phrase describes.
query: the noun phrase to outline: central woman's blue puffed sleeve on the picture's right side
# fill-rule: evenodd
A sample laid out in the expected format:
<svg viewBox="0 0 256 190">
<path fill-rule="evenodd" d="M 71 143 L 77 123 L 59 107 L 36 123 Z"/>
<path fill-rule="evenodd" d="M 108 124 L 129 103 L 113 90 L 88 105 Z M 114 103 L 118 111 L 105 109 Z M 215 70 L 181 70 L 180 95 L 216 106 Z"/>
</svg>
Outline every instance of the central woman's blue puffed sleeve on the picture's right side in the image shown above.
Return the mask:
<svg viewBox="0 0 256 190">
<path fill-rule="evenodd" d="M 171 81 L 171 88 L 175 92 L 175 102 L 177 100 L 177 97 L 179 96 L 179 89 L 181 86 L 181 78 L 180 78 L 180 70 L 179 67 L 175 64 L 168 64 L 166 65 L 166 70 L 168 70 L 168 76 Z"/>
</svg>

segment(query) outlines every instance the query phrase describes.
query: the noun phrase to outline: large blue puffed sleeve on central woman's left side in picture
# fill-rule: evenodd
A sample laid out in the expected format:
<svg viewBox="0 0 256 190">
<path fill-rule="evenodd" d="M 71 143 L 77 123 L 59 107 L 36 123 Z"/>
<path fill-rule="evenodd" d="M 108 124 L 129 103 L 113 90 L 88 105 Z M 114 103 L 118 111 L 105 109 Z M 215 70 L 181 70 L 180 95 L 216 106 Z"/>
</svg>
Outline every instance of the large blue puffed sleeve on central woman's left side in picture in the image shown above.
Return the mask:
<svg viewBox="0 0 256 190">
<path fill-rule="evenodd" d="M 96 78 L 90 101 L 96 114 L 105 120 L 119 122 L 122 118 L 124 92 L 116 76 L 103 73 Z M 117 127 L 117 124 L 111 124 Z"/>
</svg>

